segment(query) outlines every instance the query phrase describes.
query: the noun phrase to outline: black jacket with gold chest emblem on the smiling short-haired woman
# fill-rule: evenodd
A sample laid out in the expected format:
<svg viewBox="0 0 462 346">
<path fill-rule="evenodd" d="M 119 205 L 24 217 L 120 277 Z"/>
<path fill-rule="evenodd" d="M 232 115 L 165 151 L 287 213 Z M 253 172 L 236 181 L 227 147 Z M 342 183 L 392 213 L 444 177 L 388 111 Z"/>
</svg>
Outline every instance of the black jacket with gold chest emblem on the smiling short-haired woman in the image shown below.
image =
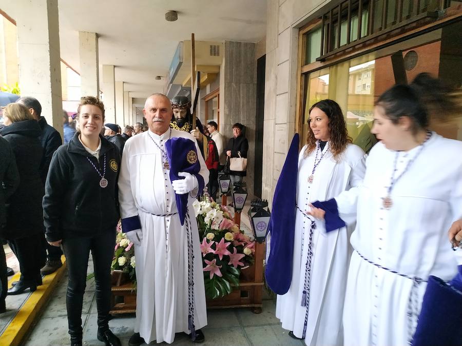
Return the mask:
<svg viewBox="0 0 462 346">
<path fill-rule="evenodd" d="M 119 221 L 120 154 L 106 138 L 100 139 L 99 162 L 85 150 L 79 133 L 53 154 L 43 197 L 48 241 L 98 235 L 112 227 L 115 230 Z M 105 155 L 108 186 L 101 188 L 101 176 L 88 160 L 102 173 Z"/>
</svg>

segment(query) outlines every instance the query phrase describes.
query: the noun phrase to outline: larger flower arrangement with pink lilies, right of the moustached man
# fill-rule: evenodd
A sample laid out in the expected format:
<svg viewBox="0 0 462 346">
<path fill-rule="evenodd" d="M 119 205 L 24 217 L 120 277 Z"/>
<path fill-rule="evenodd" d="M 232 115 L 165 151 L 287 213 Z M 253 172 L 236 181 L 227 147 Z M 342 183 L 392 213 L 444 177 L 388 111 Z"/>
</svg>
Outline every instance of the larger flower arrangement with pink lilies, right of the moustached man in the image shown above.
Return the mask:
<svg viewBox="0 0 462 346">
<path fill-rule="evenodd" d="M 226 206 L 207 194 L 192 203 L 202 239 L 201 253 L 205 295 L 220 298 L 239 286 L 241 269 L 254 263 L 255 241 L 232 220 Z"/>
</svg>

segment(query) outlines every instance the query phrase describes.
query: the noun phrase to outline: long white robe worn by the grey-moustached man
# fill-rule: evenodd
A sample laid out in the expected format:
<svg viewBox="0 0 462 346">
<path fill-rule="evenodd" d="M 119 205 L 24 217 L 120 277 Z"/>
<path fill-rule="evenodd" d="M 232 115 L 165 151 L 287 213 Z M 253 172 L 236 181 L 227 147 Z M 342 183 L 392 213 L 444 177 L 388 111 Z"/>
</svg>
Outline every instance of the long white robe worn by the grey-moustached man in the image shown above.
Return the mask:
<svg viewBox="0 0 462 346">
<path fill-rule="evenodd" d="M 135 332 L 146 343 L 156 340 L 171 343 L 175 333 L 190 333 L 188 329 L 188 246 L 187 218 L 181 226 L 175 191 L 167 170 L 163 169 L 162 154 L 149 138 L 160 145 L 169 137 L 143 132 L 127 140 L 119 176 L 119 201 L 122 218 L 139 215 L 143 239 L 135 248 L 137 272 L 137 318 Z M 200 175 L 208 182 L 208 170 L 195 138 L 184 131 L 171 130 L 171 137 L 189 138 L 196 144 Z M 165 150 L 165 149 L 164 149 Z M 196 192 L 197 193 L 197 192 Z M 194 195 L 194 191 L 191 192 Z M 205 289 L 202 272 L 199 233 L 189 194 L 188 214 L 194 249 L 195 328 L 207 324 Z"/>
</svg>

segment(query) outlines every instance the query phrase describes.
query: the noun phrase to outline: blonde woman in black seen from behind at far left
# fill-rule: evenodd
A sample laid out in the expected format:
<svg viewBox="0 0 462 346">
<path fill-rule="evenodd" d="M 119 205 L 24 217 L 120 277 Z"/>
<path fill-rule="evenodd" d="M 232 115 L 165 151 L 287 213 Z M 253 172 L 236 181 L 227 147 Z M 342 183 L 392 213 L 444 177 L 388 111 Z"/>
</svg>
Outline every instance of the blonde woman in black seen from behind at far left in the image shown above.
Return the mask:
<svg viewBox="0 0 462 346">
<path fill-rule="evenodd" d="M 9 199 L 6 227 L 0 238 L 8 240 L 20 263 L 21 279 L 8 290 L 8 295 L 35 291 L 42 284 L 40 268 L 45 257 L 43 243 L 43 183 L 40 177 L 43 149 L 37 120 L 21 104 L 9 104 L 3 110 L 5 127 L 0 134 L 8 140 L 16 157 L 20 185 Z"/>
</svg>

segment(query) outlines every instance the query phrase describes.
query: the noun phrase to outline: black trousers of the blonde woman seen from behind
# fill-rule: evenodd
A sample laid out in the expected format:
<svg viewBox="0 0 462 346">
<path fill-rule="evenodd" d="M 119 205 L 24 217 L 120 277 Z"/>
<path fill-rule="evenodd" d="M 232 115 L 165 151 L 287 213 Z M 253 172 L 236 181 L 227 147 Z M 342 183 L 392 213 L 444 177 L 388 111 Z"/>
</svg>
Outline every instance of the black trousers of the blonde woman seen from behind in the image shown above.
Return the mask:
<svg viewBox="0 0 462 346">
<path fill-rule="evenodd" d="M 44 237 L 45 235 L 40 232 L 24 238 L 8 240 L 8 245 L 20 263 L 23 280 L 36 280 L 37 276 L 40 275 L 44 257 L 42 246 Z"/>
</svg>

